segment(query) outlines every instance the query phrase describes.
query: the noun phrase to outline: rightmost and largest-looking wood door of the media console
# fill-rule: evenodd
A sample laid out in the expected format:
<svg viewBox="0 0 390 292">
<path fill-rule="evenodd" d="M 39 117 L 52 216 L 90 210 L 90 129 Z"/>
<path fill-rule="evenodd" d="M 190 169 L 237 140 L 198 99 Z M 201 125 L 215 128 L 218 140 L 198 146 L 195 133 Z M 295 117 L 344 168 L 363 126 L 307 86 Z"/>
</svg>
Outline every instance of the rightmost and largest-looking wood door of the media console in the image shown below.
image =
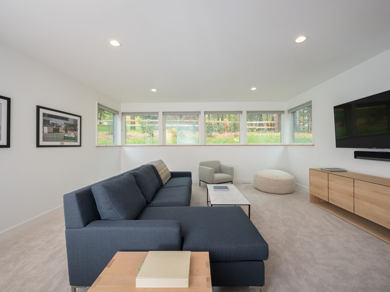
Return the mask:
<svg viewBox="0 0 390 292">
<path fill-rule="evenodd" d="M 390 228 L 390 187 L 355 180 L 355 214 Z"/>
</svg>

